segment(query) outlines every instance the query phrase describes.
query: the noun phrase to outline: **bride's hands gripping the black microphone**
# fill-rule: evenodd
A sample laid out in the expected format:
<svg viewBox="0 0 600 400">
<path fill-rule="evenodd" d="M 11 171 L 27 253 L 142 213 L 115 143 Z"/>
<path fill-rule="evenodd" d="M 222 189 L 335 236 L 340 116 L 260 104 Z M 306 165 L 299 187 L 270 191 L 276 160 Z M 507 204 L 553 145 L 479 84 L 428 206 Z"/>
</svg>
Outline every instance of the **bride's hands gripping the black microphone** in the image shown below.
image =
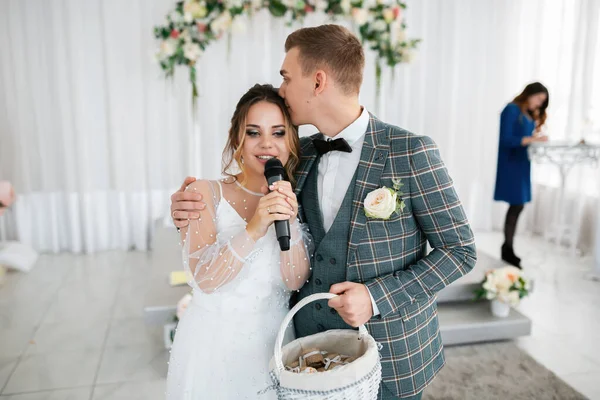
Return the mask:
<svg viewBox="0 0 600 400">
<path fill-rule="evenodd" d="M 286 221 L 292 218 L 296 218 L 298 213 L 298 205 L 296 203 L 296 196 L 288 200 L 289 191 L 285 190 L 285 185 L 279 182 L 279 188 L 283 190 L 275 190 L 266 196 L 262 197 L 256 207 L 254 216 L 248 223 L 246 230 L 250 237 L 257 241 L 261 237 L 265 236 L 269 226 L 275 221 Z M 289 184 L 289 183 L 288 183 Z M 293 192 L 291 193 L 293 195 Z M 295 206 L 293 206 L 295 204 Z"/>
</svg>

